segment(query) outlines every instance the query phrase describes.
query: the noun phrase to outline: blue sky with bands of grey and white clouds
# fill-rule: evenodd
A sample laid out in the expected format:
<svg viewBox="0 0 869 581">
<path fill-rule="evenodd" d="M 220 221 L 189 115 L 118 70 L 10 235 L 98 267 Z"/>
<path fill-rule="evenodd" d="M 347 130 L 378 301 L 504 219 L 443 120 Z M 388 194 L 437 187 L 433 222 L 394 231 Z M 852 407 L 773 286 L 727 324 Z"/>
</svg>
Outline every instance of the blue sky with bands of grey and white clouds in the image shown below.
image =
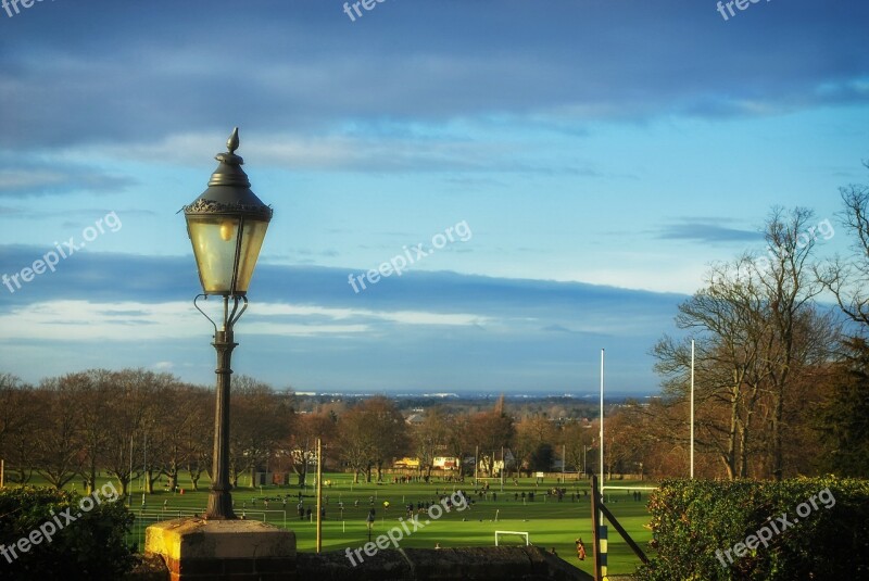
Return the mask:
<svg viewBox="0 0 869 581">
<path fill-rule="evenodd" d="M 835 224 L 866 181 L 862 1 L 373 7 L 0 9 L 0 275 L 88 240 L 0 286 L 0 371 L 213 380 L 176 212 L 234 126 L 275 209 L 234 367 L 302 391 L 587 393 L 602 348 L 609 389 L 655 391 L 710 263 L 761 251 L 773 205 Z"/>
</svg>

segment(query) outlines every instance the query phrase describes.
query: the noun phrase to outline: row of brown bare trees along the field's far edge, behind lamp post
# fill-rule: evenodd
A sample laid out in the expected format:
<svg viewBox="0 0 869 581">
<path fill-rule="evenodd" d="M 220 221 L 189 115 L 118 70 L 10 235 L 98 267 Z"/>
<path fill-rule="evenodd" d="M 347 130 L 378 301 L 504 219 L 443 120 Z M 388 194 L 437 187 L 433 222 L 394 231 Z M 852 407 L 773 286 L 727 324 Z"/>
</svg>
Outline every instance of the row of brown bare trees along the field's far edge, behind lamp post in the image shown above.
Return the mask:
<svg viewBox="0 0 869 581">
<path fill-rule="evenodd" d="M 579 422 L 558 426 L 536 414 L 516 421 L 503 397 L 483 412 L 436 406 L 408 424 L 395 402 L 374 396 L 297 409 L 291 390 L 275 390 L 247 376 L 232 380 L 230 479 L 253 482 L 257 471 L 293 475 L 303 485 L 315 466 L 316 440 L 333 468 L 354 481 L 381 480 L 396 458 L 420 458 L 419 475 L 431 476 L 434 458 L 463 463 L 479 451 L 480 470 L 494 470 L 503 447 L 526 469 L 550 469 L 554 446 L 566 444 L 576 469 L 591 430 Z M 37 386 L 0 375 L 0 458 L 7 479 L 27 483 L 40 475 L 55 488 L 81 482 L 90 491 L 99 475 L 117 480 L 122 494 L 142 481 L 148 493 L 173 490 L 181 473 L 194 490 L 211 476 L 214 391 L 144 369 L 90 369 L 42 380 Z M 496 452 L 496 453 L 493 453 Z"/>
</svg>

